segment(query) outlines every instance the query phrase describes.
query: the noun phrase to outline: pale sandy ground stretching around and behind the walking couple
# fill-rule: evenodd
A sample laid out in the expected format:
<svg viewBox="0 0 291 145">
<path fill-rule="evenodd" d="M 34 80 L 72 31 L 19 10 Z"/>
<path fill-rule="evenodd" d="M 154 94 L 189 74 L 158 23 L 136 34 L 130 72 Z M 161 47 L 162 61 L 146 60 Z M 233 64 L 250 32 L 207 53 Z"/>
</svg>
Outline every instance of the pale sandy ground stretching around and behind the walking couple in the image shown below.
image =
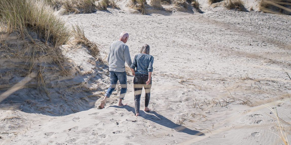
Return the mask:
<svg viewBox="0 0 291 145">
<path fill-rule="evenodd" d="M 135 117 L 128 76 L 125 107 L 117 106 L 116 91 L 102 110 L 63 116 L 0 110 L 0 129 L 10 128 L 1 131 L 0 144 L 281 144 L 267 106 L 291 122 L 291 81 L 284 72 L 291 74 L 291 17 L 217 10 L 164 16 L 109 9 L 64 16 L 82 23 L 105 52 L 123 30 L 130 35 L 132 59 L 150 45 L 152 111 Z M 143 104 L 142 97 L 141 110 Z M 290 141 L 291 126 L 283 125 Z"/>
</svg>

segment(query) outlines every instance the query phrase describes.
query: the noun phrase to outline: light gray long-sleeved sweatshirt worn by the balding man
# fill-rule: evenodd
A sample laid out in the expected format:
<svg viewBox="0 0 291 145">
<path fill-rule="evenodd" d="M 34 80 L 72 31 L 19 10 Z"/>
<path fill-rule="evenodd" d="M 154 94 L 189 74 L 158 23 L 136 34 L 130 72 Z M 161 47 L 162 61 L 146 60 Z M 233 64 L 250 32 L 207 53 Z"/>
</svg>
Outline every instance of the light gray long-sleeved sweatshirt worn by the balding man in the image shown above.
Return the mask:
<svg viewBox="0 0 291 145">
<path fill-rule="evenodd" d="M 131 59 L 128 46 L 122 41 L 115 41 L 111 44 L 107 61 L 109 71 L 125 72 L 125 61 L 130 67 Z"/>
</svg>

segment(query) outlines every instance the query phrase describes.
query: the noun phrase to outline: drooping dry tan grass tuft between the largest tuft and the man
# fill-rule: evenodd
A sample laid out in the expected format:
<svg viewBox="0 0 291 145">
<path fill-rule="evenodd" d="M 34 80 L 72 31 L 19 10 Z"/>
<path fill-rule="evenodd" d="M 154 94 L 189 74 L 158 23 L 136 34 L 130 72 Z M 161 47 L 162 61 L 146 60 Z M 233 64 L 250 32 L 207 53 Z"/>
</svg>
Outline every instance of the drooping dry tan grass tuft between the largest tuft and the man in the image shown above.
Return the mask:
<svg viewBox="0 0 291 145">
<path fill-rule="evenodd" d="M 76 24 L 76 25 L 73 25 L 72 28 L 73 28 L 73 34 L 74 34 L 74 42 L 78 45 L 84 45 L 88 49 L 90 55 L 95 57 L 98 61 L 102 62 L 102 59 L 100 57 L 100 50 L 98 46 L 85 37 L 83 27 Z"/>
</svg>

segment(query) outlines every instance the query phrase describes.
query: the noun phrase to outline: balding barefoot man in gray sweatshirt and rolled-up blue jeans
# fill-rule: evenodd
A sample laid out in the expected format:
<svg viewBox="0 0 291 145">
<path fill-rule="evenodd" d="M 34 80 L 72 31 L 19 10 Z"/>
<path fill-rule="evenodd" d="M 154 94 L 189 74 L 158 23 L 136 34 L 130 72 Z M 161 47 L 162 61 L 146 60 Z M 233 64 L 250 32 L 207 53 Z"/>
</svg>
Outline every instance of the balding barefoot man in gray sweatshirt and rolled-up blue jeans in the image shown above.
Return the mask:
<svg viewBox="0 0 291 145">
<path fill-rule="evenodd" d="M 125 62 L 129 67 L 132 63 L 130 59 L 129 48 L 125 44 L 128 40 L 128 37 L 128 33 L 124 31 L 120 34 L 119 40 L 113 42 L 110 46 L 107 59 L 109 63 L 110 87 L 108 88 L 104 99 L 101 101 L 101 109 L 104 108 L 106 99 L 109 98 L 111 93 L 115 90 L 117 81 L 119 81 L 121 86 L 118 106 L 127 105 L 122 104 L 122 100 L 127 90 Z"/>
</svg>

